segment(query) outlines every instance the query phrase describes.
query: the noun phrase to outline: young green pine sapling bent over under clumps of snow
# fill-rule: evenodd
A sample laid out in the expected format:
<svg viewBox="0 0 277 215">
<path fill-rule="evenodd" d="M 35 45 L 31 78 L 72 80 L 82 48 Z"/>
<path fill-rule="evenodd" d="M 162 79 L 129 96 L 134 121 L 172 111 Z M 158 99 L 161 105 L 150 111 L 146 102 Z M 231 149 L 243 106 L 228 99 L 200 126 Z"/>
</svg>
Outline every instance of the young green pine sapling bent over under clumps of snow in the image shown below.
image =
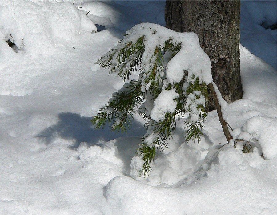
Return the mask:
<svg viewBox="0 0 277 215">
<path fill-rule="evenodd" d="M 127 82 L 91 121 L 96 128 L 109 124 L 112 130 L 126 132 L 136 111 L 143 116 L 147 133 L 137 153 L 143 160 L 140 174 L 144 176 L 151 170 L 156 149 L 163 151 L 167 147 L 176 118 L 182 118 L 185 112 L 189 113 L 184 127 L 186 140 L 200 141 L 207 116 L 208 88 L 217 109 L 220 108 L 212 83 L 211 62 L 195 33 L 177 33 L 142 23 L 127 31 L 118 45 L 96 63 Z M 129 80 L 136 72 L 138 78 Z M 222 114 L 220 122 L 227 127 Z M 228 128 L 225 130 L 229 142 L 232 136 Z"/>
</svg>

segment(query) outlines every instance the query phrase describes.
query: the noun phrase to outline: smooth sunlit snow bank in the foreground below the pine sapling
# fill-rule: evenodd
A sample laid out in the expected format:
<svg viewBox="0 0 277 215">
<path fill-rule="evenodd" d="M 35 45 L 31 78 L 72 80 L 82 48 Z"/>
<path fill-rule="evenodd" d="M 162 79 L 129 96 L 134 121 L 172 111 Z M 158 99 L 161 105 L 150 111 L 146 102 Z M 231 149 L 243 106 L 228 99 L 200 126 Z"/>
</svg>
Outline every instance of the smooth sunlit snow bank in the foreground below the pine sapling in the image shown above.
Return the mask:
<svg viewBox="0 0 277 215">
<path fill-rule="evenodd" d="M 271 214 L 275 213 L 275 179 L 263 180 L 255 167 L 265 164 L 257 154 L 242 155 L 232 146 L 210 152 L 203 164 L 177 187 L 143 184 L 127 176 L 107 185 L 113 214 Z M 263 170 L 261 170 L 263 172 Z M 263 196 L 259 200 L 253 197 Z"/>
</svg>

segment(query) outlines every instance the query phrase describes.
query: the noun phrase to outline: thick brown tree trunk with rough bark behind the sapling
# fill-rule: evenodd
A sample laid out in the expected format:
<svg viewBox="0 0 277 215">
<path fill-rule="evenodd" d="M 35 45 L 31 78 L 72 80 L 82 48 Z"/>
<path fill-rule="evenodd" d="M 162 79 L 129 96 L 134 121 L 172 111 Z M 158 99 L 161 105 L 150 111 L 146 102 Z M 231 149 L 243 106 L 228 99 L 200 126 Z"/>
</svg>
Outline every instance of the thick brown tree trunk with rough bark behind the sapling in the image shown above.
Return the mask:
<svg viewBox="0 0 277 215">
<path fill-rule="evenodd" d="M 231 103 L 243 95 L 239 62 L 240 1 L 169 1 L 166 27 L 177 32 L 195 32 L 200 46 L 211 59 L 213 81 Z M 208 111 L 215 105 L 210 101 Z"/>
</svg>

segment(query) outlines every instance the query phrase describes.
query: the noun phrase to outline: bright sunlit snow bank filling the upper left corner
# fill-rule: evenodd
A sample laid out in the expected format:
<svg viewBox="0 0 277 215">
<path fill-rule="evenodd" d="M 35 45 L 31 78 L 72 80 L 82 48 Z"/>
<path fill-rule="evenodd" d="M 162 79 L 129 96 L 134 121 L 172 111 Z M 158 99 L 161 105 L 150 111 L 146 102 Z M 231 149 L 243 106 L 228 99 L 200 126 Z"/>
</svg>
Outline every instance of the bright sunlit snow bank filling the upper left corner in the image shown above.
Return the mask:
<svg viewBox="0 0 277 215">
<path fill-rule="evenodd" d="M 1 56 L 10 52 L 8 44 L 21 54 L 53 54 L 55 47 L 78 34 L 96 32 L 94 23 L 69 2 L 7 0 L 0 3 Z"/>
</svg>

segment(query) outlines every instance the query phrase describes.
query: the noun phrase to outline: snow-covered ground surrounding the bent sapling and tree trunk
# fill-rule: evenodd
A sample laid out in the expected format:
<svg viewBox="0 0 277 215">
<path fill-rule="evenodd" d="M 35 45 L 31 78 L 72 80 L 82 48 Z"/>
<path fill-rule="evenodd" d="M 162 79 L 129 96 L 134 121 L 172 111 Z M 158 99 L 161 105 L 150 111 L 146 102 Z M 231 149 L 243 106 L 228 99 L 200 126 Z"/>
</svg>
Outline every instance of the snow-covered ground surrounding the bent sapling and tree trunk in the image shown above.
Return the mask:
<svg viewBox="0 0 277 215">
<path fill-rule="evenodd" d="M 72 3 L 0 2 L 0 214 L 277 214 L 276 1 L 241 4 L 244 96 L 224 111 L 251 152 L 218 150 L 213 111 L 200 144 L 178 121 L 146 179 L 130 177 L 141 118 L 127 134 L 90 124 L 123 85 L 94 63 L 132 26 L 164 26 L 165 1 Z"/>
</svg>

